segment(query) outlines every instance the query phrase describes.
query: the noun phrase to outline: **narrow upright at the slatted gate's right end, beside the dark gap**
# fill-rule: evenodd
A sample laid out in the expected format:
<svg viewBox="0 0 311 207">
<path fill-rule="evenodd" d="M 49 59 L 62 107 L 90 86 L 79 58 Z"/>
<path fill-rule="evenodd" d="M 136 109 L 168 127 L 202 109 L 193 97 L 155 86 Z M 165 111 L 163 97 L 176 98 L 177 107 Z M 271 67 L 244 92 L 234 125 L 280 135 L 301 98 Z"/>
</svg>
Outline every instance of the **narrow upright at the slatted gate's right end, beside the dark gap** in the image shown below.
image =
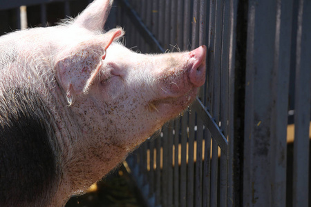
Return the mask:
<svg viewBox="0 0 311 207">
<path fill-rule="evenodd" d="M 234 91 L 236 58 L 236 16 L 238 1 L 229 0 L 229 95 L 228 95 L 228 188 L 227 206 L 233 207 L 234 198 Z M 236 166 L 237 168 L 237 166 Z M 236 175 L 238 176 L 238 175 Z"/>
</svg>

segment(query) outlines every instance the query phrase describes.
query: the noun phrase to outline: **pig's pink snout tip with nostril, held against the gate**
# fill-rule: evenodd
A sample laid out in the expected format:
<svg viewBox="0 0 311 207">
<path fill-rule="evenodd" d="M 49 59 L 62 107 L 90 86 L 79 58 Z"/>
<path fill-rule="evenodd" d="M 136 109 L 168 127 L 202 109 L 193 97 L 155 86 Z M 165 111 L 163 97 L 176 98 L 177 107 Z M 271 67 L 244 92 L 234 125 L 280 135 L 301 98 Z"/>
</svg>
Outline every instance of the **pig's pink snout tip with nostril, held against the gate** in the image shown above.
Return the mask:
<svg viewBox="0 0 311 207">
<path fill-rule="evenodd" d="M 200 46 L 189 52 L 189 79 L 196 87 L 200 87 L 205 83 L 205 59 L 206 46 Z"/>
</svg>

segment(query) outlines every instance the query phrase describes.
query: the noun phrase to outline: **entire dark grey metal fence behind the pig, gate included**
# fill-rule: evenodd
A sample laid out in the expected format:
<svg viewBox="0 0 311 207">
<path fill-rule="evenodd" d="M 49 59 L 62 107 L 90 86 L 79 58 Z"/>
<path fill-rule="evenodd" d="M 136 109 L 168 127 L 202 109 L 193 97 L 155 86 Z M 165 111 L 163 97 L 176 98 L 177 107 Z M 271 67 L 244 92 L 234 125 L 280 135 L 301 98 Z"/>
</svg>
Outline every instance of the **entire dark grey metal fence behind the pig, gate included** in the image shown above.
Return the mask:
<svg viewBox="0 0 311 207">
<path fill-rule="evenodd" d="M 0 33 L 88 3 L 2 0 Z M 126 159 L 149 206 L 311 206 L 310 11 L 308 0 L 115 0 L 106 27 L 122 26 L 132 50 L 208 48 L 194 104 Z"/>
</svg>

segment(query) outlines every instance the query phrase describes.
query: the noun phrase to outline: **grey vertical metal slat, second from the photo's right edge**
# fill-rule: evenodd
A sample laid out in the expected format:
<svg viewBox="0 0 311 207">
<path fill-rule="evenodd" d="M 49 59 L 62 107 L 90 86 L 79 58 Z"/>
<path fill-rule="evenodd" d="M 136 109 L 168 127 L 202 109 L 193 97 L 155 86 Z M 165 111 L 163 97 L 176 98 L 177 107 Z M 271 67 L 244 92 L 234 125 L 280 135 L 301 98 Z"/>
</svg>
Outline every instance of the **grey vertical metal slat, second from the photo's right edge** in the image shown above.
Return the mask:
<svg viewBox="0 0 311 207">
<path fill-rule="evenodd" d="M 290 81 L 290 41 L 292 0 L 276 1 L 276 38 L 273 72 L 272 105 L 272 206 L 286 205 L 286 132 L 288 125 L 288 92 Z"/>
</svg>

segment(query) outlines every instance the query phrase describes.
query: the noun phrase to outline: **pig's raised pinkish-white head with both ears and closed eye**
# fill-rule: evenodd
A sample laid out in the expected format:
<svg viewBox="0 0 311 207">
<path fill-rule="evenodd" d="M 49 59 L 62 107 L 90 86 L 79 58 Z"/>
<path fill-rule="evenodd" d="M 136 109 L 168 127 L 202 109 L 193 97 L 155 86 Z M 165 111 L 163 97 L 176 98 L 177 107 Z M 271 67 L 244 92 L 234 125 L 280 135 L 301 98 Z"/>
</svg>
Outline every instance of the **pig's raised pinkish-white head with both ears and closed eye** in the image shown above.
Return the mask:
<svg viewBox="0 0 311 207">
<path fill-rule="evenodd" d="M 164 55 L 125 48 L 116 41 L 121 28 L 102 32 L 110 6 L 97 0 L 66 26 L 68 40 L 59 43 L 54 61 L 66 110 L 84 140 L 77 148 L 105 157 L 106 171 L 194 101 L 205 82 L 206 55 L 205 46 Z"/>
</svg>

